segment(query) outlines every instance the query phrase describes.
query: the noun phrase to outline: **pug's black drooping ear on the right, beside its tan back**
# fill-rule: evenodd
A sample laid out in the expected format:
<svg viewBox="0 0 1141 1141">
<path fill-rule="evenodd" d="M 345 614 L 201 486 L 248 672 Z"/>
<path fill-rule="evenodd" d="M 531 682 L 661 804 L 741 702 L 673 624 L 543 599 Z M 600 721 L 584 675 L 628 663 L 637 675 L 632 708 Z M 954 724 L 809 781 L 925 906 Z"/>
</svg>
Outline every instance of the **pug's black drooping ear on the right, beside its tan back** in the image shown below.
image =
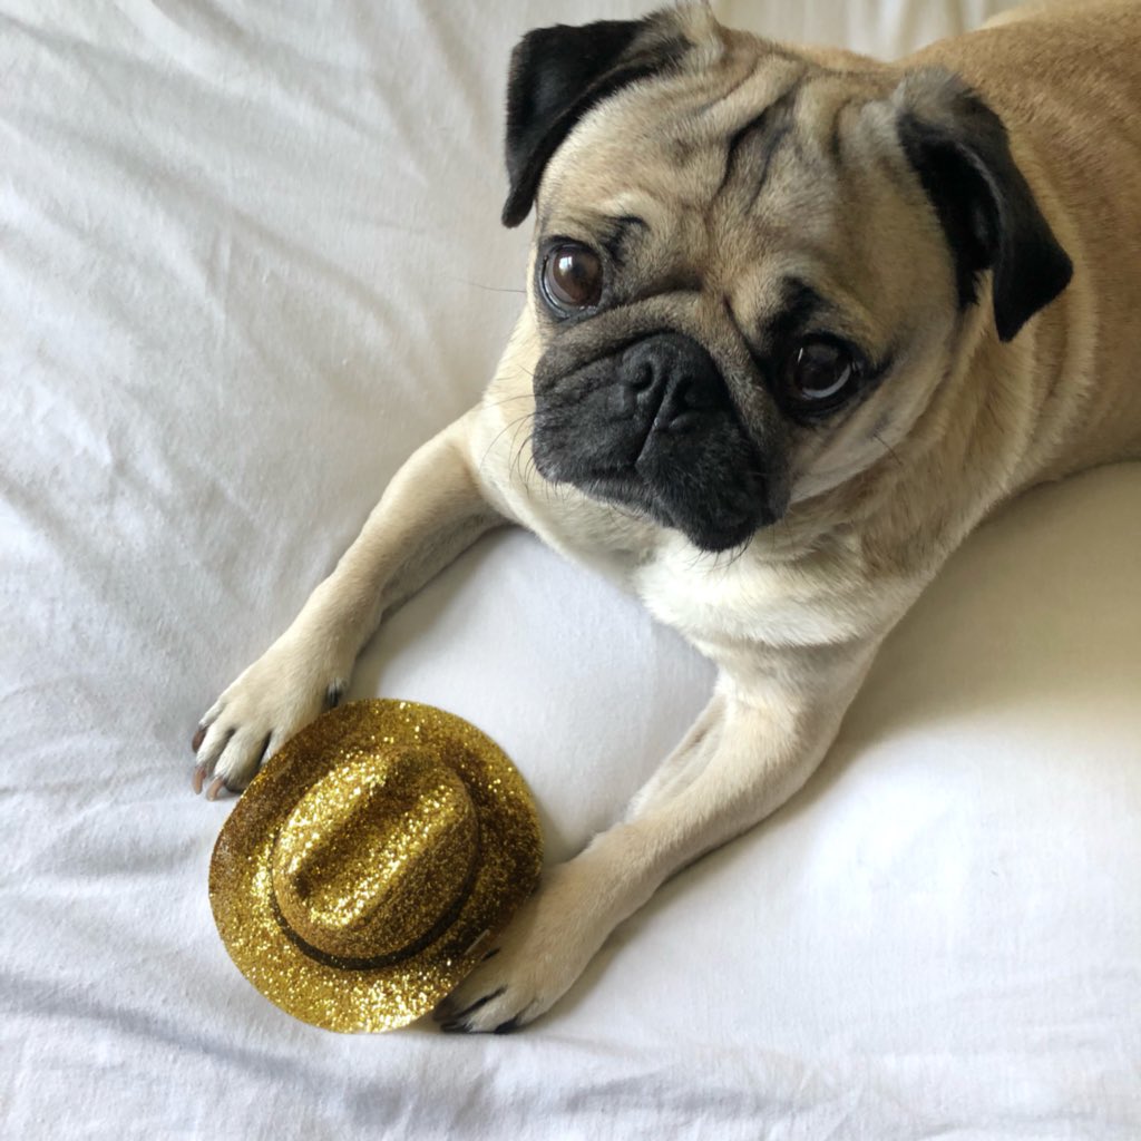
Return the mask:
<svg viewBox="0 0 1141 1141">
<path fill-rule="evenodd" d="M 895 94 L 899 139 L 955 259 L 960 304 L 994 272 L 995 326 L 1011 340 L 1069 283 L 1073 265 L 1014 163 L 1002 120 L 958 76 L 907 75 Z"/>
</svg>

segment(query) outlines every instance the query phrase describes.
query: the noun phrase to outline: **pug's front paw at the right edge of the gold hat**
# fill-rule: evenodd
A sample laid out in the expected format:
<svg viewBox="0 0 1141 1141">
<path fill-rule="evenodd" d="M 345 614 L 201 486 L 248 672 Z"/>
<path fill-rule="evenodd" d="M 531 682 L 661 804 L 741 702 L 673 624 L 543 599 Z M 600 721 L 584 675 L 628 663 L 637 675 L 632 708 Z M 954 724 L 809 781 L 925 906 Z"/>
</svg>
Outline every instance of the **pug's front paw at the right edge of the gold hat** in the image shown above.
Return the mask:
<svg viewBox="0 0 1141 1141">
<path fill-rule="evenodd" d="M 609 934 L 584 884 L 564 864 L 520 908 L 484 961 L 435 1010 L 450 1033 L 505 1034 L 569 989 Z"/>
</svg>

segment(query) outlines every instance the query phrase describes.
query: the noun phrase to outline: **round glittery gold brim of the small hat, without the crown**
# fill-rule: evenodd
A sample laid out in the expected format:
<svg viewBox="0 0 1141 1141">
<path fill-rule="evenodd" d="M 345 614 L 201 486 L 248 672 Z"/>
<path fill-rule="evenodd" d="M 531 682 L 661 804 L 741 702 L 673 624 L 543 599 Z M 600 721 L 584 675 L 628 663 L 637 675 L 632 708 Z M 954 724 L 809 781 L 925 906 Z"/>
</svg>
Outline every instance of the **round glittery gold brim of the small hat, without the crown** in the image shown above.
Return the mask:
<svg viewBox="0 0 1141 1141">
<path fill-rule="evenodd" d="M 364 969 L 318 960 L 280 919 L 274 842 L 300 798 L 335 766 L 394 747 L 423 748 L 463 780 L 479 823 L 470 889 L 446 929 L 405 960 Z M 541 864 L 531 793 L 489 737 L 430 705 L 350 702 L 288 742 L 234 806 L 210 861 L 210 905 L 234 963 L 270 1002 L 329 1030 L 375 1033 L 420 1018 L 461 981 L 531 893 Z"/>
</svg>

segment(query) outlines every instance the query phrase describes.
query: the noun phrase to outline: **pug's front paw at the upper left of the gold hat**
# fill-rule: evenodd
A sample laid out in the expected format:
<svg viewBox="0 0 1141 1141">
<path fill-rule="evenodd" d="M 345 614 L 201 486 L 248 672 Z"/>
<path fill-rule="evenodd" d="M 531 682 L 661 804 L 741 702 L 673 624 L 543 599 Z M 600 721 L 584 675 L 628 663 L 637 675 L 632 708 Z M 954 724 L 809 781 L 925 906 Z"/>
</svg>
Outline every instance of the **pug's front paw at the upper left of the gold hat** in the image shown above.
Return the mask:
<svg viewBox="0 0 1141 1141">
<path fill-rule="evenodd" d="M 249 666 L 207 711 L 194 735 L 194 791 L 240 792 L 262 762 L 318 713 L 340 702 L 348 669 L 286 636 Z"/>
</svg>

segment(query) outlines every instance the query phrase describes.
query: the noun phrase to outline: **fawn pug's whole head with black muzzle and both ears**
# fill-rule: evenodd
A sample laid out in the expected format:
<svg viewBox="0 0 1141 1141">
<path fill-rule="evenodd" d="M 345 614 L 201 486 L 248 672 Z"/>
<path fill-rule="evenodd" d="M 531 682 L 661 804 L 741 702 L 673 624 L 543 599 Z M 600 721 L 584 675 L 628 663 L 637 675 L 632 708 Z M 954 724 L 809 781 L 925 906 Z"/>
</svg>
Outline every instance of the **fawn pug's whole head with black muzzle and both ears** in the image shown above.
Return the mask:
<svg viewBox="0 0 1141 1141">
<path fill-rule="evenodd" d="M 955 76 L 704 6 L 516 49 L 503 220 L 536 205 L 539 471 L 726 550 L 879 462 L 963 315 L 1010 340 L 1070 264 Z"/>
</svg>

